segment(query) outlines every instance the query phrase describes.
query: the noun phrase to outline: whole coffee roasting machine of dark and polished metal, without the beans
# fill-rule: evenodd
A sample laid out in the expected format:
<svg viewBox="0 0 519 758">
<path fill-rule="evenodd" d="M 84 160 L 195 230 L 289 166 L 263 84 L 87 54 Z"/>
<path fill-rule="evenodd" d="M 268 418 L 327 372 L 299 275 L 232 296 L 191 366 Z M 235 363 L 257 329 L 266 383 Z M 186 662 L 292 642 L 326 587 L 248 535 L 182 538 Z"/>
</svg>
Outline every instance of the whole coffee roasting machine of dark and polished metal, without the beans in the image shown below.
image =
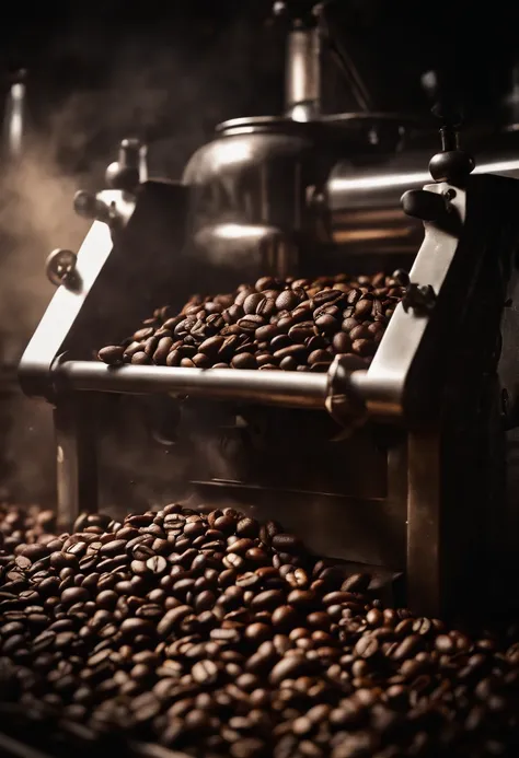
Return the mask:
<svg viewBox="0 0 519 758">
<path fill-rule="evenodd" d="M 74 199 L 93 223 L 78 255 L 49 256 L 58 289 L 20 364 L 24 392 L 55 408 L 59 516 L 104 508 L 104 485 L 130 503 L 153 473 L 158 502 L 279 520 L 419 613 L 497 600 L 517 534 L 519 160 L 474 167 L 445 118 L 429 177 L 423 155 L 417 172 L 397 156 L 404 116 L 323 115 L 322 19 L 300 10 L 282 117 L 222 124 L 177 183 L 148 178 L 146 147 L 125 140 L 111 188 Z M 362 370 L 341 354 L 326 373 L 95 359 L 193 291 L 396 269 L 405 295 Z"/>
</svg>

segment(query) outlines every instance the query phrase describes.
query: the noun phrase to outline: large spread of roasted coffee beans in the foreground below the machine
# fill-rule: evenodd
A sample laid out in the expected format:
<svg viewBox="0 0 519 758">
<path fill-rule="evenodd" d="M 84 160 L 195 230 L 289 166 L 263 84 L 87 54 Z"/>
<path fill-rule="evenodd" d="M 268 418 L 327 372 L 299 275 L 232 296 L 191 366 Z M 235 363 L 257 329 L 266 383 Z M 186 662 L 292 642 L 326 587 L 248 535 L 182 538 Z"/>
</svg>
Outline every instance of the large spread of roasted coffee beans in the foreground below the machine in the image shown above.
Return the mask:
<svg viewBox="0 0 519 758">
<path fill-rule="evenodd" d="M 232 509 L 39 528 L 1 562 L 0 712 L 204 757 L 519 755 L 516 629 L 383 608 L 369 576 Z"/>
</svg>

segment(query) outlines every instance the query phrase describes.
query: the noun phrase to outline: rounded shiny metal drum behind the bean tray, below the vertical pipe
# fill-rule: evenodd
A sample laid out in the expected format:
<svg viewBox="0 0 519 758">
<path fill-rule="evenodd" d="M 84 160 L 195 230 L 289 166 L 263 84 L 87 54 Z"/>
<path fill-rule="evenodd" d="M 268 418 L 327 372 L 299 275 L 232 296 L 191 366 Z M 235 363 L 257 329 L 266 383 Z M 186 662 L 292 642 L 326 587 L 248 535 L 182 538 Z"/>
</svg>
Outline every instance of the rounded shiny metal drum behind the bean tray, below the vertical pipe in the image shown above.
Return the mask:
<svg viewBox="0 0 519 758">
<path fill-rule="evenodd" d="M 327 189 L 334 166 L 357 151 L 371 158 L 385 153 L 400 135 L 399 118 L 391 115 L 222 124 L 184 172 L 191 248 L 241 270 L 243 278 L 254 276 L 254 265 L 278 276 L 310 272 L 316 250 L 336 242 L 332 217 L 341 211 L 333 209 Z M 401 223 L 400 209 L 397 215 Z M 265 253 L 273 240 L 276 249 Z"/>
</svg>

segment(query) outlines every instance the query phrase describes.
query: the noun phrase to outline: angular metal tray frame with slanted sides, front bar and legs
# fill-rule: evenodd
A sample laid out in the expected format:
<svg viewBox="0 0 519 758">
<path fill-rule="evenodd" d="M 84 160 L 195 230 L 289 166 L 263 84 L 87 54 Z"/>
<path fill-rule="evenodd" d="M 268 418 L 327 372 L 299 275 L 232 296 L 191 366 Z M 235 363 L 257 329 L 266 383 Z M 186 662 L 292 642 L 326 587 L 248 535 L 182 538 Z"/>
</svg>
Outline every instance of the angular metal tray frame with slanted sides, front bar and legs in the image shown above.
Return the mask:
<svg viewBox="0 0 519 758">
<path fill-rule="evenodd" d="M 512 179 L 493 176 L 470 177 L 466 193 L 447 184 L 426 186 L 426 191 L 448 198 L 451 218 L 457 219 L 453 226 L 425 223 L 424 243 L 411 271 L 414 283 L 431 285 L 435 307 L 426 312 L 418 307 L 405 311 L 400 304 L 367 372 L 350 374 L 344 361 L 337 359 L 328 375 L 312 375 L 131 365 L 113 369 L 77 360 L 105 342 L 101 336 L 104 323 L 93 316 L 101 304 L 109 310 L 105 293 L 114 292 L 114 273 L 123 277 L 120 287 L 125 288 L 124 275 L 132 267 L 134 284 L 131 281 L 130 284 L 135 285 L 146 273 L 149 289 L 153 290 L 160 281 L 160 266 L 169 267 L 176 275 L 175 299 L 181 293 L 185 296 L 194 267 L 198 267 L 198 261 L 185 258 L 176 267 L 172 259 L 172 255 L 182 255 L 184 217 L 178 202 L 177 223 L 169 237 L 161 235 L 162 247 L 154 253 L 154 266 L 150 267 L 147 259 L 139 259 L 132 252 L 136 241 L 142 244 L 141 235 L 154 223 L 150 221 L 150 212 L 157 197 L 149 187 L 151 199 L 147 202 L 145 185 L 134 214 L 114 237 L 114 246 L 107 228 L 94 223 L 78 255 L 77 273 L 82 288 L 79 291 L 59 288 L 20 364 L 24 390 L 47 397 L 56 405 L 60 515 L 67 516 L 70 524 L 79 509 L 95 508 L 95 445 L 90 422 L 95 416 L 91 412 L 95 393 L 163 393 L 232 400 L 237 405 L 326 408 L 345 427 L 353 428 L 370 416 L 404 432 L 407 430 L 406 434 L 400 432 L 401 441 L 390 446 L 388 498 L 380 504 L 385 522 L 391 513 L 392 521 L 387 523 L 400 524 L 405 529 L 406 557 L 401 565 L 393 568 L 407 570 L 407 602 L 415 610 L 438 614 L 448 607 L 449 598 L 459 593 L 463 582 L 463 571 L 454 556 L 455 541 L 460 539 L 463 556 L 463 550 L 469 549 L 468 539 L 463 538 L 463 518 L 471 517 L 470 509 L 457 503 L 457 498 L 463 497 L 461 485 L 449 481 L 452 459 L 466 468 L 466 462 L 457 457 L 449 439 L 455 438 L 469 447 L 473 444 L 471 435 L 463 431 L 468 416 L 462 418 L 461 411 L 458 412 L 458 398 L 466 392 L 466 383 L 475 396 L 485 393 L 485 387 L 480 392 L 477 370 L 485 376 L 495 371 L 493 340 L 504 307 L 500 289 L 508 280 L 517 242 L 514 209 L 519 205 L 518 187 Z M 182 191 L 175 196 L 176 200 L 181 196 Z M 169 209 L 171 197 L 166 191 Z M 160 209 L 155 211 L 160 215 Z M 172 253 L 172 245 L 176 253 Z M 477 313 L 474 301 L 484 292 L 487 269 L 495 270 L 497 277 L 488 305 L 491 316 L 488 313 L 485 316 L 487 320 L 491 318 L 492 327 L 478 336 L 466 318 L 468 314 Z M 209 277 L 210 273 L 209 270 Z M 132 301 L 131 285 L 125 290 L 126 301 Z M 118 328 L 124 327 L 124 318 L 131 324 L 130 316 L 134 318 L 135 314 L 129 311 L 118 313 Z M 476 320 L 478 324 L 481 317 Z M 452 346 L 443 349 L 443 341 L 460 328 L 468 329 L 466 342 L 475 355 L 475 362 L 471 358 L 472 363 L 465 361 L 466 365 L 460 363 L 459 350 Z M 477 366 L 475 371 L 474 366 Z M 472 398 L 470 392 L 466 394 Z M 468 400 L 464 412 L 470 415 L 474 407 Z M 474 447 L 473 459 L 478 454 Z M 470 459 L 469 455 L 465 457 Z M 463 470 L 460 481 L 466 483 L 468 476 L 470 471 Z M 474 488 L 471 492 L 474 494 Z M 477 498 L 477 488 L 474 497 Z M 359 512 L 361 508 L 359 504 Z M 379 518 L 379 524 L 384 520 Z M 377 518 L 372 528 L 377 529 Z"/>
</svg>

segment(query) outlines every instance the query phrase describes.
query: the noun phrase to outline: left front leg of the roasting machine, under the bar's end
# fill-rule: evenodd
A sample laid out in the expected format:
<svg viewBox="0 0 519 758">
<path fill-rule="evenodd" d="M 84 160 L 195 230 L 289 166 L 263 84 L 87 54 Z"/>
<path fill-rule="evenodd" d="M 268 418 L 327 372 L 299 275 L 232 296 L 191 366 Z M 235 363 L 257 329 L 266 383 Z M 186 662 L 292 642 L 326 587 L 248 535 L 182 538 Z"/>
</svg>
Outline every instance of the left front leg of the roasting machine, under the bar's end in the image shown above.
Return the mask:
<svg viewBox="0 0 519 758">
<path fill-rule="evenodd" d="M 97 510 L 97 460 L 93 404 L 89 395 L 62 397 L 55 408 L 57 443 L 57 516 L 71 529 L 81 512 Z"/>
</svg>

